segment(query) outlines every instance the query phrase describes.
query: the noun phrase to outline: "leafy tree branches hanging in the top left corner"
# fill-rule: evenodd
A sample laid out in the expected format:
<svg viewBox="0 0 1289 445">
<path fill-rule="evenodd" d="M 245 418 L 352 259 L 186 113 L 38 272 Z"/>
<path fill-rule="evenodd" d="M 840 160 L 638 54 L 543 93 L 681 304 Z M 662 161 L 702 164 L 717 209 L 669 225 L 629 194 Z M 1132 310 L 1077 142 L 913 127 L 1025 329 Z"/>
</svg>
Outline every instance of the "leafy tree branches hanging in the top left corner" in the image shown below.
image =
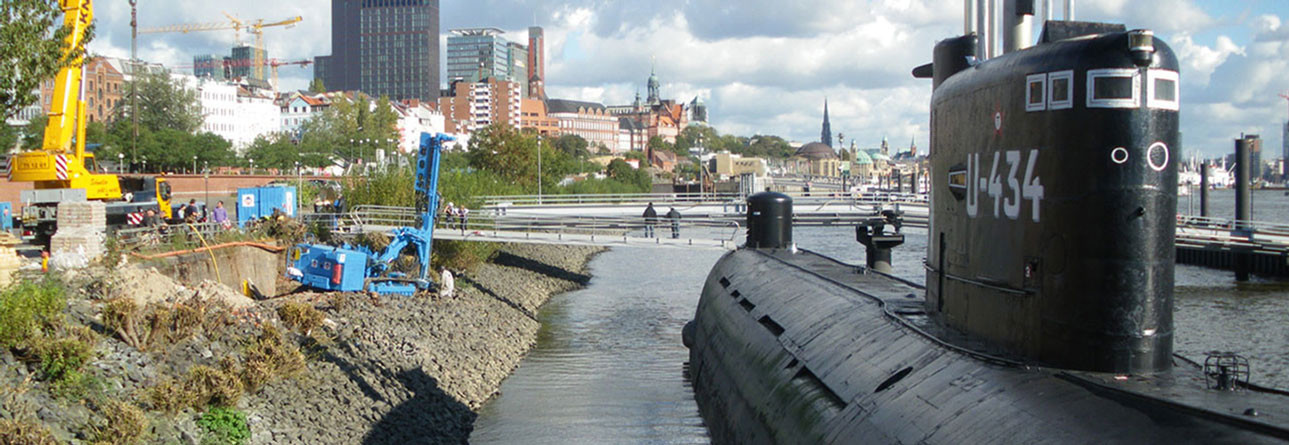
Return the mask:
<svg viewBox="0 0 1289 445">
<path fill-rule="evenodd" d="M 62 15 L 54 0 L 0 1 L 0 117 L 36 103 L 41 81 L 85 55 L 94 28 L 85 28 L 76 48 L 64 48 L 73 28 L 63 26 Z"/>
</svg>

